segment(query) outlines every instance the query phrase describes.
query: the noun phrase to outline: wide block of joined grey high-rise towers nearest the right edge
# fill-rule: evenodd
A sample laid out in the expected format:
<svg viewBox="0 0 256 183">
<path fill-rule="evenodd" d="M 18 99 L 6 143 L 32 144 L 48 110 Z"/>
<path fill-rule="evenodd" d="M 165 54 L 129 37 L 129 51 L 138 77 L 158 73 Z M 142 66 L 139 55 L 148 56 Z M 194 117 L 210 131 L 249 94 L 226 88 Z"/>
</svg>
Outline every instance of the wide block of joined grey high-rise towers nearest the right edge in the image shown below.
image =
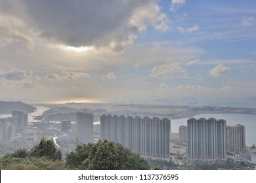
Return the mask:
<svg viewBox="0 0 256 183">
<path fill-rule="evenodd" d="M 188 119 L 188 158 L 226 159 L 226 121 Z"/>
</svg>

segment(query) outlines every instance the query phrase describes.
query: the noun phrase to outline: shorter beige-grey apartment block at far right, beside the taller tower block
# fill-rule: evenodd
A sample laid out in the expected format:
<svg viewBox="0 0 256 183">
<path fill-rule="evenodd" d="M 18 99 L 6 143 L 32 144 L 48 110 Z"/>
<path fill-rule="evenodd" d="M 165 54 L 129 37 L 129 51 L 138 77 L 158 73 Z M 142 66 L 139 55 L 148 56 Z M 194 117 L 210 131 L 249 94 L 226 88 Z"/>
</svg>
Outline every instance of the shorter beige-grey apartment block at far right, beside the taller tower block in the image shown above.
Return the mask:
<svg viewBox="0 0 256 183">
<path fill-rule="evenodd" d="M 226 128 L 226 150 L 240 153 L 245 148 L 245 127 L 240 124 L 228 126 Z"/>
</svg>

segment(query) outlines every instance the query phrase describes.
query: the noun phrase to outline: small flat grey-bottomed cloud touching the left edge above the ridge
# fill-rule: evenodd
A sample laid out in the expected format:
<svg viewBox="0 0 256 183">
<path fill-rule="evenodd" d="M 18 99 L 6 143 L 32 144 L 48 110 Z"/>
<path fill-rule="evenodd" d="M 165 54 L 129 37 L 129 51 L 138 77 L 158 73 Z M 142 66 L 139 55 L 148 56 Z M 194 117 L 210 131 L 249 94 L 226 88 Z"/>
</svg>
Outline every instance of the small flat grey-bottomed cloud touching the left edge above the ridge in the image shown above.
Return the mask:
<svg viewBox="0 0 256 183">
<path fill-rule="evenodd" d="M 25 80 L 26 78 L 30 78 L 32 75 L 32 72 L 30 69 L 26 71 L 20 71 L 20 70 L 12 70 L 9 72 L 0 72 L 0 77 L 5 78 L 6 80 L 14 80 L 14 81 L 19 81 L 19 80 Z"/>
</svg>

